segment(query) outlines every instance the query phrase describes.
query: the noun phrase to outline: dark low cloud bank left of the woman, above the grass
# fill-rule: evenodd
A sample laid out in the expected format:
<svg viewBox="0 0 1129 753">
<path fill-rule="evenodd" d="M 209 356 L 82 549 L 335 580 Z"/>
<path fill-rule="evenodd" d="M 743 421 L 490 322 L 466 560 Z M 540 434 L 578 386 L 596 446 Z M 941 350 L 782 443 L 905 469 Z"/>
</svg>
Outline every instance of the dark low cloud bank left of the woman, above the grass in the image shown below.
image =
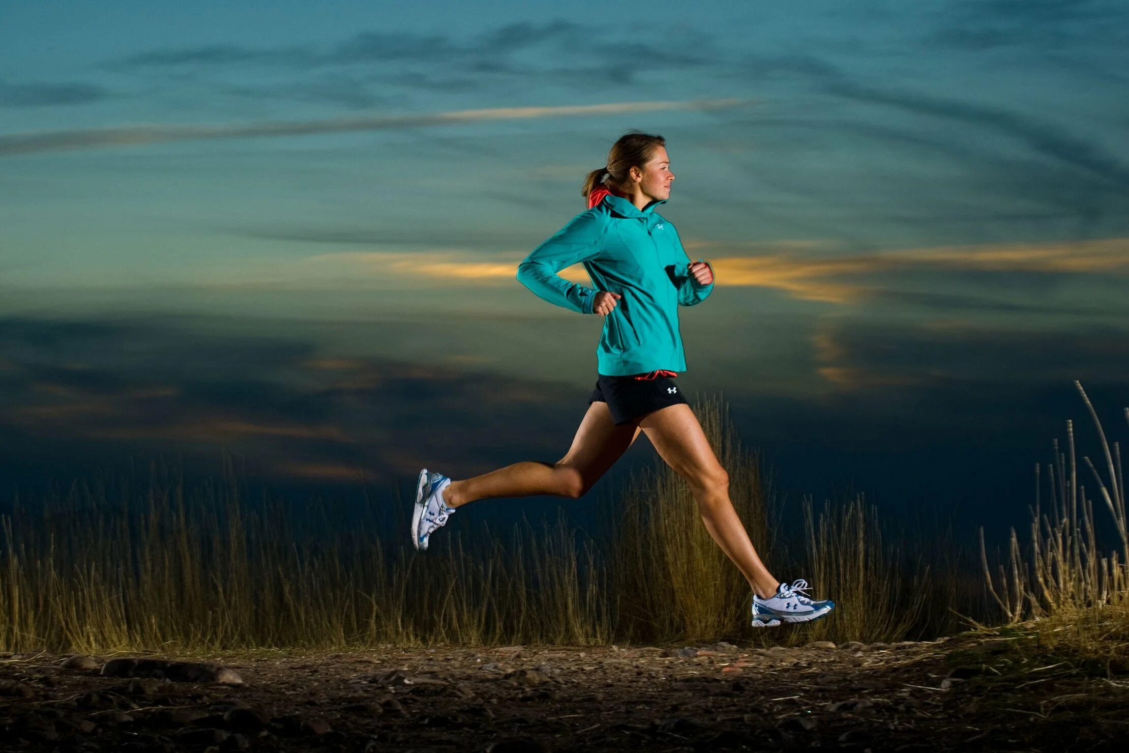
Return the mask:
<svg viewBox="0 0 1129 753">
<path fill-rule="evenodd" d="M 423 326 L 427 340 L 450 324 Z M 587 394 L 475 371 L 489 359 L 474 353 L 422 364 L 322 352 L 323 343 L 229 336 L 176 317 L 0 319 L 0 361 L 11 365 L 0 448 L 11 467 L 60 456 L 95 463 L 129 449 L 175 452 L 200 470 L 226 448 L 270 478 L 359 483 L 364 469 L 384 483 L 418 472 L 422 457 L 473 475 L 516 453 L 559 457 L 559 437 L 545 426 L 575 429 Z M 425 413 L 444 415 L 444 430 L 417 420 Z M 510 428 L 491 428 L 500 424 Z"/>
</svg>

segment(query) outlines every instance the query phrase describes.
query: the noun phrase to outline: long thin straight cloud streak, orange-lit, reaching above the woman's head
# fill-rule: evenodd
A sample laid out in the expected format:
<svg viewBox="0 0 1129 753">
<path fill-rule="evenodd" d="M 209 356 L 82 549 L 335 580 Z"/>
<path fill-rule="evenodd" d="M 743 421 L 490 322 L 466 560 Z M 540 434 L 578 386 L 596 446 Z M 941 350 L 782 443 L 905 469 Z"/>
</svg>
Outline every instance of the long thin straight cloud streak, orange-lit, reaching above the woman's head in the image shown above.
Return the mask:
<svg viewBox="0 0 1129 753">
<path fill-rule="evenodd" d="M 453 125 L 491 121 L 528 120 L 540 117 L 568 117 L 585 115 L 621 115 L 655 111 L 708 111 L 719 107 L 742 107 L 747 99 L 697 99 L 686 102 L 619 102 L 599 105 L 563 105 L 557 107 L 493 107 L 460 110 L 429 115 L 383 115 L 370 117 L 335 117 L 305 122 L 265 122 L 245 125 L 135 125 L 110 129 L 49 131 L 43 133 L 15 133 L 0 135 L 0 157 L 61 151 L 71 149 L 102 149 L 170 141 L 207 139 L 245 139 L 279 135 L 306 135 L 371 131 L 379 129 L 412 129 L 428 125 Z"/>
</svg>

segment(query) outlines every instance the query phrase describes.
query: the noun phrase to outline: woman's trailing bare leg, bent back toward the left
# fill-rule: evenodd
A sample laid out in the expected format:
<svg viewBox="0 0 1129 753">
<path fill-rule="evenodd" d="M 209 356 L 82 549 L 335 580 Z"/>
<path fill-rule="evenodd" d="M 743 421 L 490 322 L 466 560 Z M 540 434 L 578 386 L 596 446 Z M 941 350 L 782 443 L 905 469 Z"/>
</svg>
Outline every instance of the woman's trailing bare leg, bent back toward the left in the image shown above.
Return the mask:
<svg viewBox="0 0 1129 753">
<path fill-rule="evenodd" d="M 615 426 L 607 403 L 588 405 L 568 454 L 555 463 L 522 461 L 473 479 L 452 481 L 444 501 L 458 508 L 495 497 L 583 497 L 639 436 L 638 422 Z"/>
</svg>

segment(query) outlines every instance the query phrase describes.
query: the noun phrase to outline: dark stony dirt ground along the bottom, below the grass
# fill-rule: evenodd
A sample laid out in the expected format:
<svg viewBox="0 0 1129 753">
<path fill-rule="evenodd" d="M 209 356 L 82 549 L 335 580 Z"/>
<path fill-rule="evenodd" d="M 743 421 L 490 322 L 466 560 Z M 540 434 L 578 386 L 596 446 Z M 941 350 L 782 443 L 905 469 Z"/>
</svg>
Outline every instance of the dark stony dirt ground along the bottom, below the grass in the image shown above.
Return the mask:
<svg viewBox="0 0 1129 753">
<path fill-rule="evenodd" d="M 119 658 L 0 654 L 0 750 L 998 752 L 1129 739 L 1129 678 L 990 634 L 192 657 L 234 669 L 233 682 L 102 674 Z"/>
</svg>

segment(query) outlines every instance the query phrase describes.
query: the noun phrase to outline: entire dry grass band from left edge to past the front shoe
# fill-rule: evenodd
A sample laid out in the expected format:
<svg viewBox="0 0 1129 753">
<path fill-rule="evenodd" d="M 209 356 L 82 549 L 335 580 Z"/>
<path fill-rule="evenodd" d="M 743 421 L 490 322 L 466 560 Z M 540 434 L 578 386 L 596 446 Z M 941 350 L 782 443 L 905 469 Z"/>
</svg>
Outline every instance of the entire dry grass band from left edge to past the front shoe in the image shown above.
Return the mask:
<svg viewBox="0 0 1129 753">
<path fill-rule="evenodd" d="M 773 572 L 803 573 L 816 595 L 834 597 L 832 616 L 752 629 L 747 584 L 685 481 L 657 458 L 602 501 L 614 523 L 605 539 L 579 535 L 563 513 L 549 525 L 523 519 L 506 536 L 472 514 L 426 553 L 404 535 L 411 504 L 399 492 L 360 508 L 251 500 L 228 458 L 221 483 L 191 493 L 154 465 L 143 493 L 99 479 L 17 505 L 2 519 L 0 647 L 893 641 L 925 619 L 921 594 L 952 593 L 924 569 L 887 567 L 898 548 L 861 500 L 819 516 L 807 504 L 806 535 L 786 546 L 773 536 L 779 506 L 759 456 L 742 448 L 719 400 L 694 409 L 758 551 Z"/>
</svg>

